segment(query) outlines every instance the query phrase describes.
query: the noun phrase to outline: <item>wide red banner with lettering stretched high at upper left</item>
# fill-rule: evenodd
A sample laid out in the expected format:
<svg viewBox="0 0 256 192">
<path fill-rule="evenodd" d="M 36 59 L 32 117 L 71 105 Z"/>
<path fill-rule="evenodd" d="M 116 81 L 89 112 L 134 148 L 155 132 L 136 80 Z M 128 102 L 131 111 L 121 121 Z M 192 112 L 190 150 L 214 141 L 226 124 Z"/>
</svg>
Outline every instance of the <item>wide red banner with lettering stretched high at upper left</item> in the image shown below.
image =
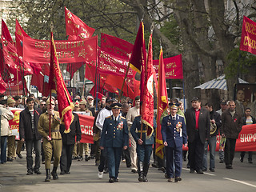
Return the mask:
<svg viewBox="0 0 256 192">
<path fill-rule="evenodd" d="M 59 63 L 96 62 L 98 36 L 79 41 L 55 41 Z M 23 60 L 50 63 L 50 40 L 23 37 Z"/>
</svg>

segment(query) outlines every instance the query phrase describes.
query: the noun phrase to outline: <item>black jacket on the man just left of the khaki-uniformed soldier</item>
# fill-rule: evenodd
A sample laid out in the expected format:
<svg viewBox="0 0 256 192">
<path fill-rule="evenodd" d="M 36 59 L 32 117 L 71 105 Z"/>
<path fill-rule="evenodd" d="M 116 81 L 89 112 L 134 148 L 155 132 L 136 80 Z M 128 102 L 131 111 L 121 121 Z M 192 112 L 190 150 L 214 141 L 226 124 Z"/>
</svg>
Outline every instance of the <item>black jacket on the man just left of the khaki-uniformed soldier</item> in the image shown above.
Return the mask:
<svg viewBox="0 0 256 192">
<path fill-rule="evenodd" d="M 40 114 L 37 110 L 34 110 L 34 132 L 35 139 L 39 140 L 42 135 L 38 133 L 38 119 Z M 24 138 L 26 141 L 34 139 L 32 132 L 31 114 L 28 107 L 19 114 L 19 138 Z"/>
</svg>

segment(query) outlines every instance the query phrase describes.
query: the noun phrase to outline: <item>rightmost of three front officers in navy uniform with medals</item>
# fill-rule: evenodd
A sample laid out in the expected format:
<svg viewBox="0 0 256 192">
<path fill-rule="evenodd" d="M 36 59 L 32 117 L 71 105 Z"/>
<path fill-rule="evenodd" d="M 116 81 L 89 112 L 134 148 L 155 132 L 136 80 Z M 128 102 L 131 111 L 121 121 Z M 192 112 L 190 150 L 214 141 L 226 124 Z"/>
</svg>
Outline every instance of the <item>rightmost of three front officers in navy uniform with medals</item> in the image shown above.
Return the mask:
<svg viewBox="0 0 256 192">
<path fill-rule="evenodd" d="M 166 146 L 166 174 L 168 182 L 182 181 L 182 144 L 187 146 L 184 118 L 177 114 L 178 104 L 170 102 L 170 115 L 162 119 L 162 142 Z M 175 174 L 174 174 L 175 166 Z"/>
</svg>

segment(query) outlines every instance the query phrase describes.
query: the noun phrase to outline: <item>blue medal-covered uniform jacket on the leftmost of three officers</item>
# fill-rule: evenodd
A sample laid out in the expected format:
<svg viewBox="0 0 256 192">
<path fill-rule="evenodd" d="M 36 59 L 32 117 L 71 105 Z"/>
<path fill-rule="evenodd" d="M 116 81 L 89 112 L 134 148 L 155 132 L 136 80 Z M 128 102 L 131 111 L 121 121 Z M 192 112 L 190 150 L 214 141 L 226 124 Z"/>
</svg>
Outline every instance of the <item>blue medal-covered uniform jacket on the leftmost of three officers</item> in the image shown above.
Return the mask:
<svg viewBox="0 0 256 192">
<path fill-rule="evenodd" d="M 107 117 L 103 123 L 100 146 L 123 147 L 129 146 L 129 135 L 126 118 L 118 116 L 114 122 L 114 116 Z"/>
</svg>

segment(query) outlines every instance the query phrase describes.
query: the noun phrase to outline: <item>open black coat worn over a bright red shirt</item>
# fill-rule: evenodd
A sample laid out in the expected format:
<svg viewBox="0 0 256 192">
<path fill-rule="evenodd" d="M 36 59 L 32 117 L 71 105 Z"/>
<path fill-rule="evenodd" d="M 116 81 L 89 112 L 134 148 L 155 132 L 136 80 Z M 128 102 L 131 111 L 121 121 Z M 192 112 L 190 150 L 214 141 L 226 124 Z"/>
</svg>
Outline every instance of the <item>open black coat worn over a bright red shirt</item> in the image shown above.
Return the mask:
<svg viewBox="0 0 256 192">
<path fill-rule="evenodd" d="M 186 110 L 186 133 L 188 136 L 188 142 L 194 142 L 195 134 L 195 110 L 193 107 Z M 206 138 L 210 138 L 210 113 L 208 110 L 201 108 L 199 114 L 198 131 L 200 140 L 205 143 Z"/>
</svg>

